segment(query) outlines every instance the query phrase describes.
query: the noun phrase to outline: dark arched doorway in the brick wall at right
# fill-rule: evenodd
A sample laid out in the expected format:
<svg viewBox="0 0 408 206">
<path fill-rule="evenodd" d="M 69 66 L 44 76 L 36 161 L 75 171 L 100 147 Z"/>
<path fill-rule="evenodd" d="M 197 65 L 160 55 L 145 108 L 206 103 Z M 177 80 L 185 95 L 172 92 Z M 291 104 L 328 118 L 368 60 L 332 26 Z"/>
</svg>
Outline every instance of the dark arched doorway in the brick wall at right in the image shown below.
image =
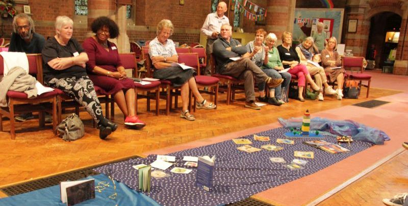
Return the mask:
<svg viewBox="0 0 408 206">
<path fill-rule="evenodd" d="M 394 61 L 389 61 L 388 57 L 397 48 L 401 20 L 401 16 L 393 12 L 381 12 L 371 17 L 366 52 L 369 62 L 367 69 L 382 69 L 384 66 L 394 65 Z M 371 62 L 375 63 L 374 67 Z"/>
</svg>

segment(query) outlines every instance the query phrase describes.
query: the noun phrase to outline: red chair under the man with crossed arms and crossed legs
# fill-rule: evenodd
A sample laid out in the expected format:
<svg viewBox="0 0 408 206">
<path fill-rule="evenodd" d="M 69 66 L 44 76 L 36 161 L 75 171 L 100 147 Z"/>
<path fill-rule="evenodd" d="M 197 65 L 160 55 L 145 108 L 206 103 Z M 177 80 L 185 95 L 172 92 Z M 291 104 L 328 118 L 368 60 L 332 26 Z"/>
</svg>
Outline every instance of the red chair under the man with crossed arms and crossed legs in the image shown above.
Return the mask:
<svg viewBox="0 0 408 206">
<path fill-rule="evenodd" d="M 244 83 L 244 80 L 237 79 L 232 76 L 228 75 L 222 75 L 222 74 L 217 74 L 215 73 L 215 68 L 217 66 L 217 61 L 215 61 L 215 56 L 214 54 L 211 54 L 211 73 L 213 74 L 213 77 L 216 77 L 220 80 L 221 83 L 225 84 L 226 88 L 222 90 L 226 90 L 226 104 L 229 105 L 230 101 L 232 101 L 234 98 L 234 92 L 236 90 L 242 90 L 242 84 Z M 241 86 L 239 86 L 241 84 Z"/>
</svg>

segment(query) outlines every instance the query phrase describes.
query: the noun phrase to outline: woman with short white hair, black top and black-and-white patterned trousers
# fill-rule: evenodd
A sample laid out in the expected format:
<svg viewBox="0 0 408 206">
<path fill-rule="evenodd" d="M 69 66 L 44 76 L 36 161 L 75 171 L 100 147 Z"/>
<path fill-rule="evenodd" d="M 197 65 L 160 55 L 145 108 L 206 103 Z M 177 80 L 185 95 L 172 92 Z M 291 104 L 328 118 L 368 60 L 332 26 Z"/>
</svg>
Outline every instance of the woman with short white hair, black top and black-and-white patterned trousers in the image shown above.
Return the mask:
<svg viewBox="0 0 408 206">
<path fill-rule="evenodd" d="M 45 42 L 42 50 L 44 83 L 62 90 L 84 106 L 98 124 L 99 137 L 105 139 L 118 126 L 102 113 L 93 83 L 85 70 L 88 55 L 72 38 L 73 21 L 67 16 L 58 16 L 55 28 L 57 34 Z"/>
</svg>

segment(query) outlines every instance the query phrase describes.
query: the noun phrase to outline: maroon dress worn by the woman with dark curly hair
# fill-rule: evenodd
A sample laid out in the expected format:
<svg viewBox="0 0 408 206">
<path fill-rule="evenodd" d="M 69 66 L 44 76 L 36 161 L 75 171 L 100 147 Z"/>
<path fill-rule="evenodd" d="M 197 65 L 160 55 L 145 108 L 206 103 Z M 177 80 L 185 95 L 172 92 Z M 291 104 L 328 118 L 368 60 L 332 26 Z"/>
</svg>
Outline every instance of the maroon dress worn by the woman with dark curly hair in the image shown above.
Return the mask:
<svg viewBox="0 0 408 206">
<path fill-rule="evenodd" d="M 119 80 L 92 72 L 95 66 L 111 72 L 117 72 L 116 68 L 122 66 L 118 49 L 114 43 L 108 41 L 109 51 L 107 51 L 102 45 L 96 42 L 94 38 L 89 37 L 84 41 L 82 47 L 85 49 L 89 58 L 89 61 L 86 63 L 88 76 L 95 85 L 107 92 L 103 95 L 115 94 L 120 90 L 128 90 L 135 87 L 135 83 L 132 79 L 126 78 Z"/>
</svg>

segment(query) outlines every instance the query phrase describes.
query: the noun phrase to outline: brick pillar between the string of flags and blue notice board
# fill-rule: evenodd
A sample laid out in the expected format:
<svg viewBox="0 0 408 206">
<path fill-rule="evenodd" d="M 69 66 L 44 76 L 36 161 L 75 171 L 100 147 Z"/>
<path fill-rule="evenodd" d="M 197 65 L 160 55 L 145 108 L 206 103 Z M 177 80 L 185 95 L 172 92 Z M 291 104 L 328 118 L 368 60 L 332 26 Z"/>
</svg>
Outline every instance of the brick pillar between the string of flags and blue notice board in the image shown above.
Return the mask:
<svg viewBox="0 0 408 206">
<path fill-rule="evenodd" d="M 266 30 L 277 37 L 276 45 L 282 43 L 282 33 L 293 32 L 296 0 L 268 0 Z"/>
</svg>

